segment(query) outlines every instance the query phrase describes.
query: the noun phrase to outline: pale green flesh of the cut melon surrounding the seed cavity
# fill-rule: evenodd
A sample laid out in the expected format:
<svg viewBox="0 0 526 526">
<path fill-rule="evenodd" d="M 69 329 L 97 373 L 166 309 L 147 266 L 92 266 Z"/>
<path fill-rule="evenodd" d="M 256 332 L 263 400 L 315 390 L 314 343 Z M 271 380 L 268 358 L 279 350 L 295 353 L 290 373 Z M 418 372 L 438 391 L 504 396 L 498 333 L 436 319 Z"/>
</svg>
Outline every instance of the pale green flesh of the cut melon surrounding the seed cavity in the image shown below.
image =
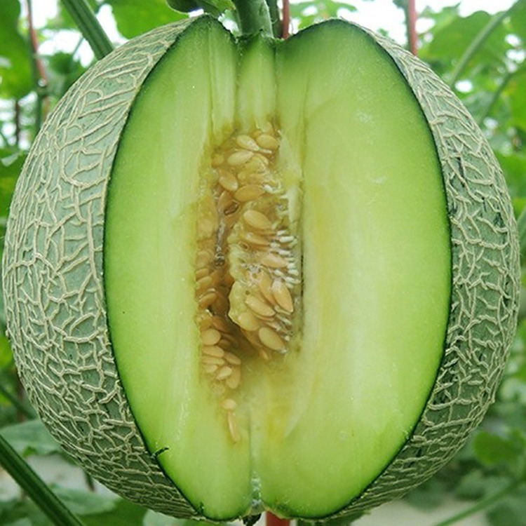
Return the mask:
<svg viewBox="0 0 526 526">
<path fill-rule="evenodd" d="M 391 60 L 331 22 L 243 60 L 194 23 L 135 102 L 109 186 L 105 281 L 119 374 L 152 453 L 196 508 L 320 517 L 407 440 L 443 353 L 450 245 L 436 151 Z M 196 201 L 203 156 L 278 123 L 302 178 L 301 344 L 239 388 L 234 443 L 201 372 Z"/>
</svg>

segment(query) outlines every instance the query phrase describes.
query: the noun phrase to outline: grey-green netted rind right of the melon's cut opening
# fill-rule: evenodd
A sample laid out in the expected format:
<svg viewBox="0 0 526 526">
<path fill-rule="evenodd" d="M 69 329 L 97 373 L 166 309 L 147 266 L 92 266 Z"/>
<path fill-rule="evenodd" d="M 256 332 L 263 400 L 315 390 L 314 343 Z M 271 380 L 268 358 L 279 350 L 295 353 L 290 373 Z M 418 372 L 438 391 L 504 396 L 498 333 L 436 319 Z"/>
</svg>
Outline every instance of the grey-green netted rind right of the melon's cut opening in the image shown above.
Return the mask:
<svg viewBox="0 0 526 526">
<path fill-rule="evenodd" d="M 478 126 L 431 69 L 373 35 L 407 78 L 445 174 L 452 298 L 445 355 L 422 419 L 395 461 L 339 515 L 403 496 L 463 445 L 494 400 L 515 332 L 518 237 L 506 182 Z"/>
</svg>

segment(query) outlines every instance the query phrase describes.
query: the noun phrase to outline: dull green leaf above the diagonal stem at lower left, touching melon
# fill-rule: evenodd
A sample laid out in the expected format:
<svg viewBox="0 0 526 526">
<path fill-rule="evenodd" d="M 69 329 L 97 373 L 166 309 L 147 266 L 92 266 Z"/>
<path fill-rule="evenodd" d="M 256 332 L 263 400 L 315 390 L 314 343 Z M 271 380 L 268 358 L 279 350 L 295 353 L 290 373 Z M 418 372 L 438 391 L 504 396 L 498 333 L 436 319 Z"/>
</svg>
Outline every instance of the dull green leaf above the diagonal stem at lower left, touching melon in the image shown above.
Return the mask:
<svg viewBox="0 0 526 526">
<path fill-rule="evenodd" d="M 22 456 L 61 452 L 60 446 L 38 419 L 6 426 L 1 433 Z"/>
</svg>

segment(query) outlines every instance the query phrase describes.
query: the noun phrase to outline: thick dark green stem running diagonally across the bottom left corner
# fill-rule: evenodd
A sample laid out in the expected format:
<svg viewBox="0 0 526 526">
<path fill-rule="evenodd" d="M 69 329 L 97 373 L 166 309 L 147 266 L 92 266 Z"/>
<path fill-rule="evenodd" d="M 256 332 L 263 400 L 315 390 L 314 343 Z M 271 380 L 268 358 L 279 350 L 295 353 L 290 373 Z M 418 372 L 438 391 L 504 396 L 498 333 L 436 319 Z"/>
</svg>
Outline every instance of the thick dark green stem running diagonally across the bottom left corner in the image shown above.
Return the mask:
<svg viewBox="0 0 526 526">
<path fill-rule="evenodd" d="M 0 465 L 57 526 L 84 526 L 0 434 Z"/>
</svg>

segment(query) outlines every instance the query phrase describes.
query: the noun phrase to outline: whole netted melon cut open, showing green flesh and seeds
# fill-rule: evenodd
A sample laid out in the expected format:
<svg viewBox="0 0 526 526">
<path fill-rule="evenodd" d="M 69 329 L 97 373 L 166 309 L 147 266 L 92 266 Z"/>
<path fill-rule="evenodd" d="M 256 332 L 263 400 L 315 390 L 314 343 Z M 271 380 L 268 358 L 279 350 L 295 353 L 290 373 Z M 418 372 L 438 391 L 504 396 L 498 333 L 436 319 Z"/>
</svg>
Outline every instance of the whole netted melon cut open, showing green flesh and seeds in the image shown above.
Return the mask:
<svg viewBox="0 0 526 526">
<path fill-rule="evenodd" d="M 8 221 L 29 398 L 107 487 L 177 517 L 400 497 L 494 399 L 518 236 L 482 133 L 341 20 L 203 16 L 115 50 L 34 142 Z"/>
</svg>

